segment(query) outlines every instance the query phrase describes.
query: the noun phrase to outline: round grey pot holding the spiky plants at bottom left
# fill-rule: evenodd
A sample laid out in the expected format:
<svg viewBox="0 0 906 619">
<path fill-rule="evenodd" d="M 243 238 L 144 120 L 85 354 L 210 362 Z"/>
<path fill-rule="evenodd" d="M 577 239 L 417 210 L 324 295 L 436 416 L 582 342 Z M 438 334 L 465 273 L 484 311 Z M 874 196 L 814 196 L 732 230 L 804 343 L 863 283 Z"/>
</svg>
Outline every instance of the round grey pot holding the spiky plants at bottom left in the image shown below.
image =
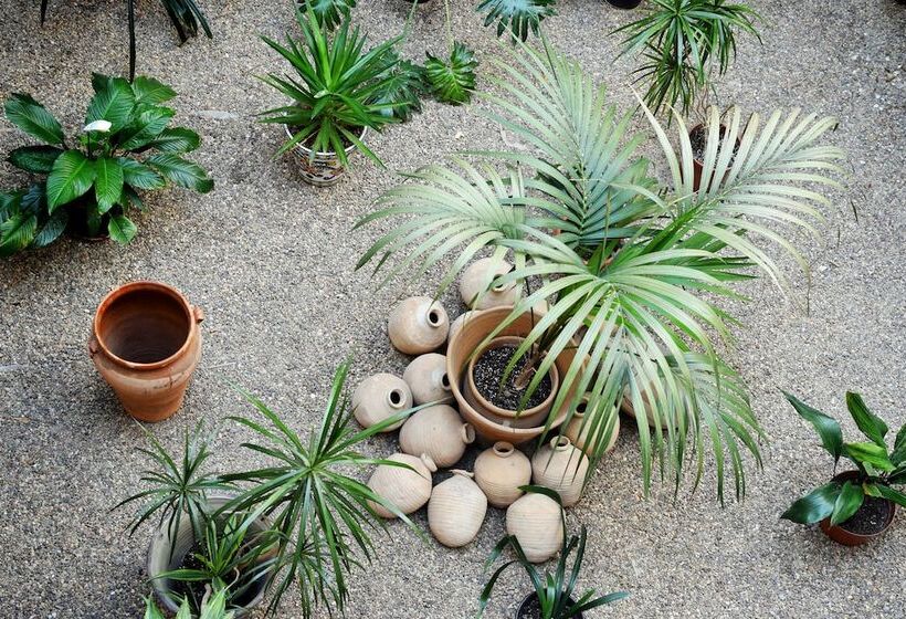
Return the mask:
<svg viewBox="0 0 906 619">
<path fill-rule="evenodd" d="M 208 496 L 209 513 L 215 513 L 232 500 L 231 496 L 225 495 L 210 495 Z M 271 531 L 271 523 L 260 517 L 249 526 L 246 539 L 255 534 L 262 535 Z M 196 544 L 196 536 L 192 532 L 192 523 L 189 521 L 188 514 L 183 514 L 179 521 L 179 528 L 175 535 L 170 537 L 169 518 L 158 526 L 151 542 L 148 545 L 147 570 L 148 578 L 151 581 L 155 597 L 158 602 L 162 605 L 170 612 L 177 612 L 179 605 L 168 595 L 172 590 L 172 581 L 168 578 L 155 578 L 155 576 L 165 571 L 178 569 L 186 558 L 186 555 L 192 549 Z M 274 555 L 262 555 L 259 560 L 272 558 Z M 235 617 L 244 617 L 249 615 L 255 607 L 260 606 L 264 599 L 265 585 L 267 577 L 262 577 L 250 585 L 249 590 L 243 595 L 242 606 L 233 607 Z"/>
</svg>

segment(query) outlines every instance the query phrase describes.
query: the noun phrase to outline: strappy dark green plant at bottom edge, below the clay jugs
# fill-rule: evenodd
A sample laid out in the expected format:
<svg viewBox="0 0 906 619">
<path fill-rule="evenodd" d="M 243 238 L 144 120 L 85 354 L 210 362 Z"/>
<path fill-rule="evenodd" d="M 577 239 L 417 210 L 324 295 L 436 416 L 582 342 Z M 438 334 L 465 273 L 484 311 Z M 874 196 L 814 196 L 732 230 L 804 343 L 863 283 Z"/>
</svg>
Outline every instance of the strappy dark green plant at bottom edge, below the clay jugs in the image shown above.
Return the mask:
<svg viewBox="0 0 906 619">
<path fill-rule="evenodd" d="M 526 492 L 545 494 L 557 503 L 562 504 L 560 501 L 560 495 L 547 487 L 526 485 L 522 486 L 522 490 Z M 491 600 L 491 594 L 494 590 L 494 586 L 497 584 L 497 579 L 512 565 L 522 567 L 526 575 L 528 575 L 528 579 L 531 581 L 531 587 L 535 589 L 535 595 L 538 597 L 538 606 L 541 611 L 540 619 L 572 619 L 573 617 L 578 617 L 581 612 L 612 604 L 625 598 L 629 595 L 620 591 L 617 594 L 599 596 L 594 589 L 586 589 L 581 595 L 578 595 L 577 599 L 573 599 L 573 596 L 577 595 L 576 585 L 579 579 L 579 574 L 582 570 L 582 560 L 586 556 L 586 539 L 588 538 L 588 531 L 583 525 L 579 535 L 571 535 L 569 539 L 567 539 L 566 517 L 563 516 L 562 510 L 560 510 L 560 517 L 563 518 L 563 542 L 560 547 L 560 556 L 557 559 L 557 566 L 552 573 L 545 570 L 544 575 L 540 574 L 538 568 L 533 565 L 528 558 L 526 558 L 525 552 L 515 535 L 506 535 L 497 542 L 497 545 L 494 546 L 494 549 L 491 552 L 491 556 L 485 563 L 485 571 L 491 569 L 491 566 L 493 566 L 497 559 L 501 558 L 501 555 L 507 548 L 513 549 L 516 554 L 516 558 L 506 562 L 498 567 L 484 586 L 482 595 L 478 598 L 478 617 L 481 617 L 484 613 L 485 608 L 487 608 L 487 604 Z M 569 555 L 571 555 L 573 550 L 576 550 L 576 558 L 572 560 L 572 567 L 570 568 Z"/>
</svg>

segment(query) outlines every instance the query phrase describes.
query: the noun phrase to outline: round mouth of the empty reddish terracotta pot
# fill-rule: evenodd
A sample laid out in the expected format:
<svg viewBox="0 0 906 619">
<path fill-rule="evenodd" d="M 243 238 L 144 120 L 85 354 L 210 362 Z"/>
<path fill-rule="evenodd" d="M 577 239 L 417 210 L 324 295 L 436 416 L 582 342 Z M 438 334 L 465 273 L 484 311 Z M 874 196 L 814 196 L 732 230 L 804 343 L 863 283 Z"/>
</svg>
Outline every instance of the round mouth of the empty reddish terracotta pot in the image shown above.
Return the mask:
<svg viewBox="0 0 906 619">
<path fill-rule="evenodd" d="M 185 354 L 194 323 L 191 305 L 176 288 L 159 282 L 133 282 L 101 302 L 94 336 L 114 361 L 152 369 Z"/>
</svg>

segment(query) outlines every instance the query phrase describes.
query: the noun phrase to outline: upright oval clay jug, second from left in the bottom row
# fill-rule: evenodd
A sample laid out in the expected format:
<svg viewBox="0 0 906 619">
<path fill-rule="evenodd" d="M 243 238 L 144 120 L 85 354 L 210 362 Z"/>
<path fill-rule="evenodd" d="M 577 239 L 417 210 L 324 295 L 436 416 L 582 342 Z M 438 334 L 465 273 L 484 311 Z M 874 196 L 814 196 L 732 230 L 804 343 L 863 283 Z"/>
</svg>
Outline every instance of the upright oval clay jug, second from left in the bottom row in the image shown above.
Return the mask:
<svg viewBox="0 0 906 619">
<path fill-rule="evenodd" d="M 434 486 L 428 502 L 428 527 L 438 542 L 451 548 L 465 546 L 478 535 L 487 513 L 487 497 L 467 471 Z"/>
</svg>

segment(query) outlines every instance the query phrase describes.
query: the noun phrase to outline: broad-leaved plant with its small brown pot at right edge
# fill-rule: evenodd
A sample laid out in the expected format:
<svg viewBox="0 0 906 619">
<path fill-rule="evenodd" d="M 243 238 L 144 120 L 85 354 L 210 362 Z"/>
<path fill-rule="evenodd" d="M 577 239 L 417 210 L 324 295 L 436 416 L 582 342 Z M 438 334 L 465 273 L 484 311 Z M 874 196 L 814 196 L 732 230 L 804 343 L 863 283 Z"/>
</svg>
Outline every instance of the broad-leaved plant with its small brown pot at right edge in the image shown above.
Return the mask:
<svg viewBox="0 0 906 619">
<path fill-rule="evenodd" d="M 843 442 L 840 423 L 796 396 L 784 394 L 797 412 L 818 432 L 822 447 L 834 459 L 855 465 L 854 471 L 833 479 L 796 501 L 780 516 L 800 524 L 820 523 L 834 542 L 857 546 L 879 537 L 894 520 L 896 506 L 906 507 L 906 494 L 894 485 L 906 485 L 906 424 L 896 434 L 893 449 L 886 443 L 887 424 L 874 415 L 862 396 L 846 392 L 846 408 L 864 442 Z"/>
</svg>

